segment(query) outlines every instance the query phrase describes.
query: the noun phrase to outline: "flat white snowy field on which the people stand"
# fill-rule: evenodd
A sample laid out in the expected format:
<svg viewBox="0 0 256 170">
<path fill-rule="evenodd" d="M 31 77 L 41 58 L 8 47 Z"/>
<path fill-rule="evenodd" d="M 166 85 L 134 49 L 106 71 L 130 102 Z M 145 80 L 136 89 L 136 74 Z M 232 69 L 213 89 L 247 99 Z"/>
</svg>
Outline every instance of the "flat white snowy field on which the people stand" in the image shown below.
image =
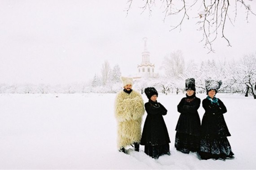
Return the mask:
<svg viewBox="0 0 256 170">
<path fill-rule="evenodd" d="M 177 104 L 185 94 L 159 94 L 171 155 L 154 160 L 131 149 L 116 148 L 116 94 L 0 94 L 0 169 L 256 169 L 256 100 L 217 93 L 234 160 L 199 160 L 174 148 Z M 143 94 L 144 102 L 148 99 Z M 198 94 L 201 101 L 206 94 Z M 204 110 L 199 108 L 202 120 Z M 146 113 L 143 117 L 146 118 Z M 142 127 L 144 122 L 142 123 Z"/>
</svg>

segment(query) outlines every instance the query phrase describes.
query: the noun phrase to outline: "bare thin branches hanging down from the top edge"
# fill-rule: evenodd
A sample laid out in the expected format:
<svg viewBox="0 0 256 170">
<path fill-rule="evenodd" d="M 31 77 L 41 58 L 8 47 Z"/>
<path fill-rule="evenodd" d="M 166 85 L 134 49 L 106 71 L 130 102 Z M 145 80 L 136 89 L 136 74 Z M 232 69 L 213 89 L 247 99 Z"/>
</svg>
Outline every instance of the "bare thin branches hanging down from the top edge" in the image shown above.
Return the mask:
<svg viewBox="0 0 256 170">
<path fill-rule="evenodd" d="M 221 38 L 224 38 L 228 46 L 231 46 L 229 39 L 225 36 L 225 25 L 227 21 L 233 25 L 237 17 L 238 7 L 243 8 L 246 13 L 246 20 L 250 14 L 256 14 L 252 11 L 250 3 L 252 0 L 142 0 L 142 12 L 148 10 L 150 15 L 157 4 L 161 5 L 163 9 L 163 20 L 167 17 L 175 16 L 180 17 L 179 22 L 171 26 L 171 30 L 179 28 L 185 19 L 190 19 L 190 16 L 197 19 L 199 31 L 202 32 L 204 47 L 209 52 L 214 52 L 212 48 L 213 42 L 218 37 L 218 32 L 221 32 Z M 128 9 L 132 7 L 133 0 L 128 0 Z M 233 9 L 230 9 L 233 7 Z M 198 10 L 199 9 L 199 10 Z M 198 12 L 200 11 L 200 12 Z M 192 14 L 191 14 L 192 13 Z M 232 19 L 231 19 L 232 18 Z"/>
</svg>

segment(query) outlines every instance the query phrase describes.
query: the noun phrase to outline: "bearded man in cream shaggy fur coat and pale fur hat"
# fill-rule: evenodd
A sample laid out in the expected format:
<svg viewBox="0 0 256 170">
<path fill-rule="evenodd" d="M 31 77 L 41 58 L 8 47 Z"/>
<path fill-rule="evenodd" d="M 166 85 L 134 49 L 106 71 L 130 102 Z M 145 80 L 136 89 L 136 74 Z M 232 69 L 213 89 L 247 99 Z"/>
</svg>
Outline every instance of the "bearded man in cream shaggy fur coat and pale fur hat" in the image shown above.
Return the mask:
<svg viewBox="0 0 256 170">
<path fill-rule="evenodd" d="M 118 123 L 118 148 L 125 153 L 125 147 L 134 144 L 139 151 L 141 121 L 144 115 L 144 102 L 141 94 L 132 90 L 132 78 L 121 77 L 124 90 L 115 99 L 115 118 Z"/>
</svg>

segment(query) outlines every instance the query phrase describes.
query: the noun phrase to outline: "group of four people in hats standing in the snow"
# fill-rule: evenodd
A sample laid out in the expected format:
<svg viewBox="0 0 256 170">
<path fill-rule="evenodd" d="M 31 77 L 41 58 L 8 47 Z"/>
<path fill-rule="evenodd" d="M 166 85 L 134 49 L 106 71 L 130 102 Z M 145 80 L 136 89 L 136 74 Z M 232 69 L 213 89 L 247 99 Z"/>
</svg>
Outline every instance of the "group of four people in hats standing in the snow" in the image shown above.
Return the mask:
<svg viewBox="0 0 256 170">
<path fill-rule="evenodd" d="M 144 145 L 144 152 L 157 159 L 159 156 L 170 155 L 170 138 L 163 119 L 167 109 L 157 102 L 158 92 L 154 87 L 147 87 L 144 92 L 149 99 L 145 103 L 141 94 L 132 89 L 132 78 L 121 77 L 124 90 L 120 91 L 115 100 L 115 117 L 118 122 L 118 148 L 126 152 L 125 147 L 134 144 L 135 151 Z M 176 126 L 175 147 L 182 153 L 197 152 L 201 159 L 232 159 L 227 136 L 231 136 L 223 114 L 227 112 L 223 102 L 215 97 L 222 82 L 207 80 L 205 82 L 207 98 L 202 105 L 205 110 L 202 124 L 198 109 L 201 100 L 195 95 L 194 78 L 186 79 L 186 97 L 177 106 L 180 117 Z M 147 112 L 143 131 L 141 122 Z M 133 145 L 132 145 L 133 146 Z"/>
</svg>

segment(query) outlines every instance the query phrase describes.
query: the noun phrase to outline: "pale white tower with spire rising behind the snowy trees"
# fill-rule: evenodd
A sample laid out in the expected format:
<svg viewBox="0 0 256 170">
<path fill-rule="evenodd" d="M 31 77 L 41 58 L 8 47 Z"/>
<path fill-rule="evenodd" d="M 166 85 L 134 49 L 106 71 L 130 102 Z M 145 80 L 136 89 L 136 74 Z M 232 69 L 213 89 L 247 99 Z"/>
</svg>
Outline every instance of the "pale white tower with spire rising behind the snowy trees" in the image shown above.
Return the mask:
<svg viewBox="0 0 256 170">
<path fill-rule="evenodd" d="M 154 64 L 150 63 L 150 52 L 147 51 L 147 38 L 144 40 L 144 51 L 141 53 L 142 61 L 141 64 L 137 66 L 137 71 L 140 76 L 154 76 Z"/>
</svg>

